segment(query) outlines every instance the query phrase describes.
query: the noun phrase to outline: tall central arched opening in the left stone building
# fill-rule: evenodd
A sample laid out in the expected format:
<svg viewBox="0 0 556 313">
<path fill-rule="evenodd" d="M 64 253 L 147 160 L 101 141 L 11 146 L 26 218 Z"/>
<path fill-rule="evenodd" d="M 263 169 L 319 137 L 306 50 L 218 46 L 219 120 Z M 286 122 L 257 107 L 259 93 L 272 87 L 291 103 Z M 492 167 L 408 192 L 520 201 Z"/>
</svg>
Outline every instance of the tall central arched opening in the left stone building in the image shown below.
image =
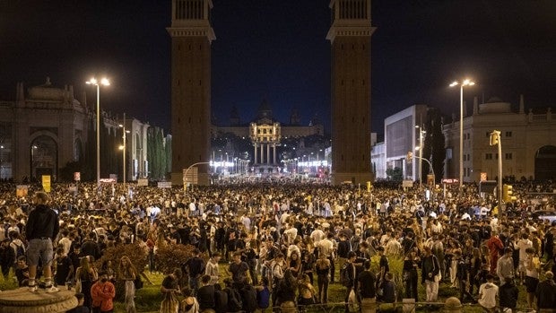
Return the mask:
<svg viewBox="0 0 556 313">
<path fill-rule="evenodd" d="M 50 175 L 54 180 L 58 174 L 58 142 L 54 135 L 35 134 L 31 136 L 30 176 L 39 179 Z"/>
</svg>

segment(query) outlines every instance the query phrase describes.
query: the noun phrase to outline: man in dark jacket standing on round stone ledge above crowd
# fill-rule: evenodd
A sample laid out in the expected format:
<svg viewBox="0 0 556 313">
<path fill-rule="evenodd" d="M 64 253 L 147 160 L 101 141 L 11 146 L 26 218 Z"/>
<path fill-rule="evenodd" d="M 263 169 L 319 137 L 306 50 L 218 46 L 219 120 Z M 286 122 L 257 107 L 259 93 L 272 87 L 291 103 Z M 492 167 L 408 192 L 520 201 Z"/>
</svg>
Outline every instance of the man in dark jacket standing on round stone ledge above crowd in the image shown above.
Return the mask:
<svg viewBox="0 0 556 313">
<path fill-rule="evenodd" d="M 27 260 L 29 262 L 29 291 L 37 291 L 37 265 L 42 260 L 42 273 L 45 277 L 47 292 L 59 291 L 52 284 L 52 259 L 54 251 L 52 241 L 56 239 L 59 230 L 58 215 L 50 207 L 50 196 L 45 192 L 37 192 L 33 198 L 35 209 L 29 213 L 25 236 L 29 242 Z"/>
</svg>

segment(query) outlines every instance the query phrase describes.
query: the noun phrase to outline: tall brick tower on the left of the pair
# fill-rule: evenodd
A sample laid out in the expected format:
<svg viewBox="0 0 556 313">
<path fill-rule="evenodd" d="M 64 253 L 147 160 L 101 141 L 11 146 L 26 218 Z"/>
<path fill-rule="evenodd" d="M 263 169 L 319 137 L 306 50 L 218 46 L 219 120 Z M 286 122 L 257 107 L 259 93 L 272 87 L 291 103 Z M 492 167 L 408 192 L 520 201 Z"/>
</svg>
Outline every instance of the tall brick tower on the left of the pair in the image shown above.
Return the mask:
<svg viewBox="0 0 556 313">
<path fill-rule="evenodd" d="M 171 37 L 173 184 L 182 183 L 183 170 L 189 166 L 209 161 L 212 8 L 212 0 L 172 0 L 172 23 L 167 30 Z M 208 185 L 208 165 L 200 164 L 195 178 L 194 183 Z"/>
</svg>

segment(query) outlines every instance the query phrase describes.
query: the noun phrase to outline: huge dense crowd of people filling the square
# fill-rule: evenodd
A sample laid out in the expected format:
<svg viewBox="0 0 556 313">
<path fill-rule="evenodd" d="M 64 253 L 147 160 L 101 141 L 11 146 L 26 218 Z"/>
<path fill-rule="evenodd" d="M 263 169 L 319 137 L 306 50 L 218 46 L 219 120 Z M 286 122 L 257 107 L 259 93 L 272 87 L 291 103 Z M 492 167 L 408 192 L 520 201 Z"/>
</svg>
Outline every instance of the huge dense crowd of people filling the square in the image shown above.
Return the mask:
<svg viewBox="0 0 556 313">
<path fill-rule="evenodd" d="M 529 215 L 553 210 L 554 200 L 526 193 L 552 190 L 549 183 L 514 184 L 517 203 L 505 207 L 471 184 L 432 192 L 287 180 L 188 190 L 68 187 L 56 184 L 47 195 L 30 186 L 18 197 L 13 185 L 0 185 L 0 266 L 33 292 L 74 287 L 82 303 L 75 312 L 111 311 L 117 282 L 126 311 L 135 312 L 143 269 L 133 256 L 93 265 L 106 248 L 129 243 L 148 251 L 151 269 L 161 245 L 195 247 L 164 278 L 161 312 L 326 304 L 333 283 L 343 286 L 346 311 L 374 300 L 436 302 L 439 285 L 489 311 L 516 309 L 521 284 L 527 308 L 556 309 L 556 226 Z M 45 219 L 39 208 L 56 214 Z M 395 260 L 400 273 L 391 270 Z"/>
</svg>

